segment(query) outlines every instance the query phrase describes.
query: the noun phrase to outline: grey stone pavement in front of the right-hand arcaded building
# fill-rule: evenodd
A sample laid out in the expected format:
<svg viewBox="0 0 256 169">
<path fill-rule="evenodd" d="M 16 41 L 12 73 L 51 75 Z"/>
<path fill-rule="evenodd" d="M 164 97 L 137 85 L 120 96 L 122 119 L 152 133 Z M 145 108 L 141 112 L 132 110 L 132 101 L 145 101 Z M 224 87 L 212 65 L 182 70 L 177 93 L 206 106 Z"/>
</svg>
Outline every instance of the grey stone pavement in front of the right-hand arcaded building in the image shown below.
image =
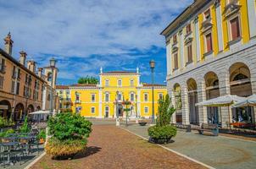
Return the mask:
<svg viewBox="0 0 256 169">
<path fill-rule="evenodd" d="M 126 129 L 148 139 L 147 128 L 148 126 L 134 124 Z M 164 146 L 215 168 L 246 169 L 256 166 L 256 142 L 254 141 L 199 135 L 180 130 L 174 141 Z"/>
</svg>

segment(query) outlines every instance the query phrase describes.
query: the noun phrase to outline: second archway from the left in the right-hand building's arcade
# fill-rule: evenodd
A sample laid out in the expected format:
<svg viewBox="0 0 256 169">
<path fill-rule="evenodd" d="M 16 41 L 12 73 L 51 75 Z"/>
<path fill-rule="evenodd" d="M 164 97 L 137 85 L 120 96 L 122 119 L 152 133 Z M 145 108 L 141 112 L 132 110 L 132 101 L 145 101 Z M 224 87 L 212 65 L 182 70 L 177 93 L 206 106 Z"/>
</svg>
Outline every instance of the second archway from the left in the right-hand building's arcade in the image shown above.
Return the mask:
<svg viewBox="0 0 256 169">
<path fill-rule="evenodd" d="M 188 79 L 186 81 L 187 85 L 187 96 L 189 102 L 189 122 L 192 124 L 199 124 L 199 115 L 198 115 L 198 85 L 195 79 Z"/>
</svg>

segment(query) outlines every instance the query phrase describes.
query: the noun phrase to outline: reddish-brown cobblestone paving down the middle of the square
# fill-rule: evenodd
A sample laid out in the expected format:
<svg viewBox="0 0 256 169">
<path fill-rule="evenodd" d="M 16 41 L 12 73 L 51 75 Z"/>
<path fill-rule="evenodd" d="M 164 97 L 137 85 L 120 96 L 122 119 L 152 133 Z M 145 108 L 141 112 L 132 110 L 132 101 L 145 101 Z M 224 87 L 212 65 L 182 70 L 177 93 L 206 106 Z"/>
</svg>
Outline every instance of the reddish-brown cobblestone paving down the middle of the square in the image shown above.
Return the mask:
<svg viewBox="0 0 256 169">
<path fill-rule="evenodd" d="M 110 122 L 108 122 L 110 123 Z M 84 155 L 73 160 L 55 161 L 45 155 L 37 168 L 204 168 L 193 161 L 164 150 L 155 144 L 117 128 L 114 123 L 94 122 L 92 135 Z"/>
</svg>

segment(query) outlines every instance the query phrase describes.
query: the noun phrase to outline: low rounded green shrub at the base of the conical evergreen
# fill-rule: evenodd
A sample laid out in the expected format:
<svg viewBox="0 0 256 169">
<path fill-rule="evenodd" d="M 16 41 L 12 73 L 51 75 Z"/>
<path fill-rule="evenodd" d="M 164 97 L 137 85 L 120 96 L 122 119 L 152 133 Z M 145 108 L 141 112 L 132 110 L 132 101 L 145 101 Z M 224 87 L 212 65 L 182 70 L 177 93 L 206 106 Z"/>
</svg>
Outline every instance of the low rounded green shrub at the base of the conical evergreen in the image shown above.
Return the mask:
<svg viewBox="0 0 256 169">
<path fill-rule="evenodd" d="M 172 125 L 152 126 L 147 128 L 148 135 L 153 139 L 170 139 L 175 137 L 177 129 Z"/>
</svg>

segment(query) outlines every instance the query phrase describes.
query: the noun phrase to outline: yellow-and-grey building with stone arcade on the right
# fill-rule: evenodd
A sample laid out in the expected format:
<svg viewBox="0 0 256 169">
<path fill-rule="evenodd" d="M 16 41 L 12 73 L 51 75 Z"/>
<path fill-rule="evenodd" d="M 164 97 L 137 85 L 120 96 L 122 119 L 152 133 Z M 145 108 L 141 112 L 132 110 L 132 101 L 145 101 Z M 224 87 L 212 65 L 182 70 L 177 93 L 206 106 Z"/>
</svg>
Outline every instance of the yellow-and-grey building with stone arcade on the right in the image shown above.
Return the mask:
<svg viewBox="0 0 256 169">
<path fill-rule="evenodd" d="M 256 94 L 255 20 L 255 1 L 196 0 L 162 31 L 173 123 L 256 122 L 252 106 L 195 106 L 221 95 Z"/>
</svg>

